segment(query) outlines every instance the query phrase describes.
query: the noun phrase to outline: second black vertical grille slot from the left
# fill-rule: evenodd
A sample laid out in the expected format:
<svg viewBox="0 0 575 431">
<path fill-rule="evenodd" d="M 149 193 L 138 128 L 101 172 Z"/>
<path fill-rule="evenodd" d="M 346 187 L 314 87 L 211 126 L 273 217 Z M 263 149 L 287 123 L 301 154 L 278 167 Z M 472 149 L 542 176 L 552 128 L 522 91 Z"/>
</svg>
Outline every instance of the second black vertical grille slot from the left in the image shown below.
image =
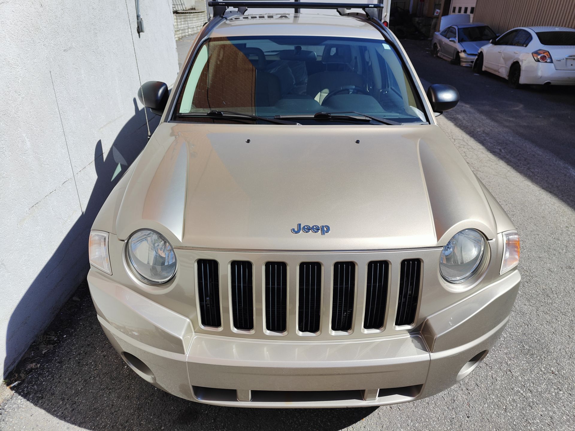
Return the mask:
<svg viewBox="0 0 575 431">
<path fill-rule="evenodd" d="M 251 262 L 234 260 L 230 264 L 233 326 L 236 329 L 254 329 L 253 273 Z"/>
</svg>

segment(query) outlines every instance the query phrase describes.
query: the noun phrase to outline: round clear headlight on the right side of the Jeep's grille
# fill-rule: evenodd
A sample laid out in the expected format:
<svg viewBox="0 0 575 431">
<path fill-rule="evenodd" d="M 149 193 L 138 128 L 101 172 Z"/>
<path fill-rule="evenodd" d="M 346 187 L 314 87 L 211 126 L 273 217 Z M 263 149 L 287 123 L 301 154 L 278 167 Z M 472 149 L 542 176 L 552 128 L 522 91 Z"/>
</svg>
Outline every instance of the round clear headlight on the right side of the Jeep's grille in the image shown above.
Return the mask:
<svg viewBox="0 0 575 431">
<path fill-rule="evenodd" d="M 479 269 L 485 255 L 485 238 L 475 229 L 456 233 L 443 247 L 439 272 L 450 283 L 463 283 Z"/>
</svg>

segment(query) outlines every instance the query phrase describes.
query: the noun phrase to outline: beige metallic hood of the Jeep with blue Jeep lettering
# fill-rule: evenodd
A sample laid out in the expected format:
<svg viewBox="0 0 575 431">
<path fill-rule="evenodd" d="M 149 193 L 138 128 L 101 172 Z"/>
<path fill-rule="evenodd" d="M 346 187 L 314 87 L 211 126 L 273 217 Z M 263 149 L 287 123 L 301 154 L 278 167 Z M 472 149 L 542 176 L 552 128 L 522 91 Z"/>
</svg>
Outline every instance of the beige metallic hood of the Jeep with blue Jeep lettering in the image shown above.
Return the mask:
<svg viewBox="0 0 575 431">
<path fill-rule="evenodd" d="M 435 125 L 160 124 L 116 220 L 120 239 L 141 228 L 174 246 L 258 250 L 436 247 L 465 228 L 496 234 L 478 180 Z"/>
</svg>

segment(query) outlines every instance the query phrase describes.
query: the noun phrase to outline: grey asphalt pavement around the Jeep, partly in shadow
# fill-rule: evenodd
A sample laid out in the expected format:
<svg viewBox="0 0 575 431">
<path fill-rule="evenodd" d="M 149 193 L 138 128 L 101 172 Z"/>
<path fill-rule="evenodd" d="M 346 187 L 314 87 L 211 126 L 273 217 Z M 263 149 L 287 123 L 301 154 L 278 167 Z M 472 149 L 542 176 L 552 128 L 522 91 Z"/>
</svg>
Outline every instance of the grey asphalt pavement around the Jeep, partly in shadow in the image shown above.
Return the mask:
<svg viewBox="0 0 575 431">
<path fill-rule="evenodd" d="M 512 90 L 404 41 L 424 83 L 458 88 L 439 117 L 515 222 L 523 281 L 485 361 L 450 389 L 378 409 L 206 406 L 136 376 L 98 325 L 86 286 L 33 345 L 4 390 L 0 429 L 531 430 L 575 429 L 575 87 Z"/>
</svg>

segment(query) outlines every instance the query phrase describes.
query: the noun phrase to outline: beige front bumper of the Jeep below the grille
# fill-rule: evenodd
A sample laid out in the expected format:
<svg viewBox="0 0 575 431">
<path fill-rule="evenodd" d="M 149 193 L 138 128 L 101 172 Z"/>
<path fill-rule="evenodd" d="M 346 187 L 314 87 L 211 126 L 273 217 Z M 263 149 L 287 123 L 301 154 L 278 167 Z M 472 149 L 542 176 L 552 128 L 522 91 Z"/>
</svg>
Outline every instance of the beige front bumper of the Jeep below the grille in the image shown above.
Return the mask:
<svg viewBox="0 0 575 431">
<path fill-rule="evenodd" d="M 378 406 L 443 391 L 499 338 L 519 282 L 513 270 L 409 334 L 295 341 L 197 333 L 189 318 L 88 275 L 98 320 L 137 374 L 178 397 L 240 407 Z"/>
</svg>

